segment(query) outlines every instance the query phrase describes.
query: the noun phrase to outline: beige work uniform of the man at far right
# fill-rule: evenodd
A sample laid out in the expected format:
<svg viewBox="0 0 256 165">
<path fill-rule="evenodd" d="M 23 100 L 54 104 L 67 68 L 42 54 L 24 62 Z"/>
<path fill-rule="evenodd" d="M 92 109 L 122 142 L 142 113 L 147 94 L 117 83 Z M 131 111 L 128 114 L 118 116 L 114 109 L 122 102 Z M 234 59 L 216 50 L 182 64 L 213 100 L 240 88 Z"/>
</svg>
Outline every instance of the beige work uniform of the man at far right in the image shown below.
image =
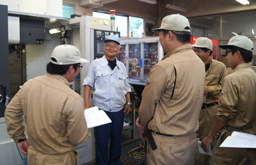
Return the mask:
<svg viewBox="0 0 256 165">
<path fill-rule="evenodd" d="M 243 164 L 246 160 L 239 148 L 222 148 L 221 143 L 230 136 L 231 127 L 242 128 L 239 131 L 254 134 L 252 122 L 256 118 L 256 74 L 249 63 L 243 63 L 226 76 L 221 89 L 218 104 L 218 119 L 226 122 L 228 130 L 223 129 L 214 150 L 212 164 Z M 245 129 L 249 125 L 250 129 Z"/>
</svg>

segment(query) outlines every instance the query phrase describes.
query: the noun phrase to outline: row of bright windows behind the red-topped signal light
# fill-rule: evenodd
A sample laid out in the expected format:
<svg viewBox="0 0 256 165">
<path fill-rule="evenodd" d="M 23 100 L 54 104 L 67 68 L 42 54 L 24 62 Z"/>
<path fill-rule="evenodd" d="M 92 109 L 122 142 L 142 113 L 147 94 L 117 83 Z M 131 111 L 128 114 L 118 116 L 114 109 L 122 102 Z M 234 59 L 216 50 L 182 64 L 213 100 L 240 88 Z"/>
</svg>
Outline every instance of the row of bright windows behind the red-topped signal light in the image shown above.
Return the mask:
<svg viewBox="0 0 256 165">
<path fill-rule="evenodd" d="M 97 18 L 110 19 L 109 13 L 100 13 L 100 12 L 93 11 L 92 16 Z M 128 18 L 129 18 L 129 25 L 130 25 L 129 37 L 131 37 L 131 32 L 133 32 L 134 38 L 142 38 L 143 37 L 143 18 L 115 15 L 116 31 L 120 32 L 120 36 L 128 37 L 128 29 L 127 29 Z"/>
</svg>

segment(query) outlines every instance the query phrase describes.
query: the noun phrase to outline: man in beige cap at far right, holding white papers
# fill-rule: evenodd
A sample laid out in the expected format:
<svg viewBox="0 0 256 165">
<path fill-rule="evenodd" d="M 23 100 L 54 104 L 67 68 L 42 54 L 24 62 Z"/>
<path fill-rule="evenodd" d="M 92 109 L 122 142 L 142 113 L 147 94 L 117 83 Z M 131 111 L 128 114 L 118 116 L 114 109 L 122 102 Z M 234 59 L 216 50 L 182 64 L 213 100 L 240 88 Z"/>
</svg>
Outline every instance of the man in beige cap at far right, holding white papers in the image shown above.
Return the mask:
<svg viewBox="0 0 256 165">
<path fill-rule="evenodd" d="M 226 50 L 227 62 L 235 69 L 223 80 L 217 119 L 201 146 L 208 151 L 214 136 L 223 129 L 212 164 L 243 164 L 246 158 L 239 148 L 223 148 L 220 145 L 234 131 L 256 133 L 256 74 L 250 65 L 253 42 L 246 36 L 234 36 L 227 45 L 219 47 Z"/>
</svg>

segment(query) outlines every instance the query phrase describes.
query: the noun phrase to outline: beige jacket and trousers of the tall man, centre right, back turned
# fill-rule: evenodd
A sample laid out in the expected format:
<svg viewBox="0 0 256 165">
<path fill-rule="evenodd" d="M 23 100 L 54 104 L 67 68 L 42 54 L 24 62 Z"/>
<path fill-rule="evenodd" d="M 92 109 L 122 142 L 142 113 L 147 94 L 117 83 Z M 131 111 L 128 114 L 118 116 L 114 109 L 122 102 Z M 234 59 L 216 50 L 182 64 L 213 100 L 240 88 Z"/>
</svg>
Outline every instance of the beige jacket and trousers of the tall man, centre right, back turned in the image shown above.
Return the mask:
<svg viewBox="0 0 256 165">
<path fill-rule="evenodd" d="M 140 124 L 173 136 L 152 133 L 157 149 L 148 147 L 147 164 L 194 163 L 204 81 L 204 62 L 190 44 L 164 55 L 151 69 L 142 93 Z"/>
</svg>

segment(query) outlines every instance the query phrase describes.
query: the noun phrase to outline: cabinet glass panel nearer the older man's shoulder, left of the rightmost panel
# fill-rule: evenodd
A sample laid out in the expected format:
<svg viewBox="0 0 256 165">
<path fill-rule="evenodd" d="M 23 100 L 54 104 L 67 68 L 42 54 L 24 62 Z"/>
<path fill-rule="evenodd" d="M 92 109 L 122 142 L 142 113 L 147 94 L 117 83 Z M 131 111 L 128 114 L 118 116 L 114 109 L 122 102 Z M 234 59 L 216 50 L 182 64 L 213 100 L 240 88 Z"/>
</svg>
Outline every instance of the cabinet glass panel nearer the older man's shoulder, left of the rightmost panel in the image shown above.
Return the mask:
<svg viewBox="0 0 256 165">
<path fill-rule="evenodd" d="M 129 44 L 129 78 L 141 80 L 140 43 Z"/>
</svg>

